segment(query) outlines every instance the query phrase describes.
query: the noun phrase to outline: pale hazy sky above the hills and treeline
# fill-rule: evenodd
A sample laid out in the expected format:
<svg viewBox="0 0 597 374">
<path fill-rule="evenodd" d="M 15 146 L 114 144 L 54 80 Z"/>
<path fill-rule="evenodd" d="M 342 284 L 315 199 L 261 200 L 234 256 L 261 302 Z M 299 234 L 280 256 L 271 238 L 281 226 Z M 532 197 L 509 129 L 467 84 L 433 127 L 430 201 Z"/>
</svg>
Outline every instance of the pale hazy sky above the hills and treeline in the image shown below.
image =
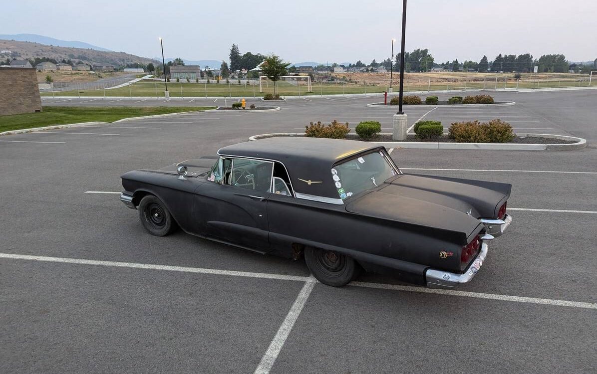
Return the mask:
<svg viewBox="0 0 597 374">
<path fill-rule="evenodd" d="M 93 5 L 91 5 L 93 4 Z M 96 5 L 96 4 L 102 4 Z M 436 62 L 498 53 L 597 58 L 597 1 L 410 0 L 406 50 Z M 275 53 L 284 60 L 377 61 L 399 51 L 402 1 L 3 1 L 0 34 L 36 33 L 144 57 L 187 60 Z"/>
</svg>

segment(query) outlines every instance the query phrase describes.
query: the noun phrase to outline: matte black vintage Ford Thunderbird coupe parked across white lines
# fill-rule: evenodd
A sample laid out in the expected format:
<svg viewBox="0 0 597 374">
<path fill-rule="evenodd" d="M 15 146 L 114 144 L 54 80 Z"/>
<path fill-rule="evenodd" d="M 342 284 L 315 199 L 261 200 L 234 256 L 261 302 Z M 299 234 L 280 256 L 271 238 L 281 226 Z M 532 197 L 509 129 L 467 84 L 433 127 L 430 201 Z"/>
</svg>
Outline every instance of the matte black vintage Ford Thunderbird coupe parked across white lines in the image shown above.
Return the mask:
<svg viewBox="0 0 597 374">
<path fill-rule="evenodd" d="M 260 253 L 304 256 L 320 282 L 361 270 L 430 288 L 470 282 L 512 221 L 510 184 L 404 174 L 384 147 L 278 137 L 122 175 L 149 233 L 175 227 Z"/>
</svg>

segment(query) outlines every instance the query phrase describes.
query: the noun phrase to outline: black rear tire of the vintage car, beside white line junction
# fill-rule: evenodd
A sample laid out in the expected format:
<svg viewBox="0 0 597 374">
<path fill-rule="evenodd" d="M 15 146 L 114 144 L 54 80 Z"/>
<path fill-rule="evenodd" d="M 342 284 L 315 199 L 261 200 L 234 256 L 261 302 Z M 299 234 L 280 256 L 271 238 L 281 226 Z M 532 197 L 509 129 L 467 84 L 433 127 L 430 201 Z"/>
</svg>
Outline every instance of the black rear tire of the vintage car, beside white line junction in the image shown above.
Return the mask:
<svg viewBox="0 0 597 374">
<path fill-rule="evenodd" d="M 319 248 L 305 248 L 304 262 L 319 282 L 333 287 L 347 285 L 361 272 L 361 267 L 349 256 Z"/>
</svg>

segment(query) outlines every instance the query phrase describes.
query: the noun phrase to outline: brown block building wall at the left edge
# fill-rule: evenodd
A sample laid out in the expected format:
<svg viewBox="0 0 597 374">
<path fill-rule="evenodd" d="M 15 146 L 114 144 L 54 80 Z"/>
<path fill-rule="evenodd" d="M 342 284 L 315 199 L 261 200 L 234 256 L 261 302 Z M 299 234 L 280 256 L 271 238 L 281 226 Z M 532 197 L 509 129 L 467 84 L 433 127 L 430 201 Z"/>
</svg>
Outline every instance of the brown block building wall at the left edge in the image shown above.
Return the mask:
<svg viewBox="0 0 597 374">
<path fill-rule="evenodd" d="M 41 110 L 35 71 L 23 67 L 0 67 L 0 116 Z"/>
</svg>

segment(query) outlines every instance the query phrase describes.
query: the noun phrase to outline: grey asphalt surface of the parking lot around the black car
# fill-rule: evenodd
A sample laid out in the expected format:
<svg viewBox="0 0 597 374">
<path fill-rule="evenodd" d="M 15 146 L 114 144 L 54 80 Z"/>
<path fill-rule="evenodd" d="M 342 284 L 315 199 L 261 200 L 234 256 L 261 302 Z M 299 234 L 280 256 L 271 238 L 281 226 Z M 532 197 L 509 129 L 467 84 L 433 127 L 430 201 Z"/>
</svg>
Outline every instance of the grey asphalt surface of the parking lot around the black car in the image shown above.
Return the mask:
<svg viewBox="0 0 597 374">
<path fill-rule="evenodd" d="M 463 294 L 401 288 L 375 274 L 358 286 L 301 292 L 309 283 L 302 261 L 180 231 L 153 237 L 118 201 L 125 171 L 214 154 L 251 135 L 301 132 L 312 120 L 391 127 L 395 108 L 366 106 L 379 97 L 0 138 L 0 372 L 595 372 L 597 92 L 495 97 L 516 105 L 438 108 L 424 118 L 501 118 L 518 132 L 589 144 L 566 152 L 393 150 L 404 172 L 513 185 L 513 224 L 490 243 Z M 44 105 L 107 104 L 57 101 Z M 108 105 L 133 104 L 147 102 Z M 428 111 L 405 107 L 411 124 Z"/>
</svg>

